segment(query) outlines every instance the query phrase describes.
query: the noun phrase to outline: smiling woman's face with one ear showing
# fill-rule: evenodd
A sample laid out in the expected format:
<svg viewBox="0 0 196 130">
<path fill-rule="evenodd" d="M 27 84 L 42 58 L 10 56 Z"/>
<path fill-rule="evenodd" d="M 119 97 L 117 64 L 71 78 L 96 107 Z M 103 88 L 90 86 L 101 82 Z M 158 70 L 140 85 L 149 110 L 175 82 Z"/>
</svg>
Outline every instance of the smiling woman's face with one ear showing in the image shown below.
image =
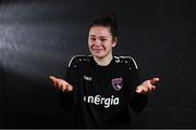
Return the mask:
<svg viewBox="0 0 196 130">
<path fill-rule="evenodd" d="M 112 48 L 117 44 L 117 38 L 112 38 L 110 27 L 93 26 L 88 34 L 88 48 L 90 53 L 97 58 L 103 58 L 112 53 Z"/>
</svg>

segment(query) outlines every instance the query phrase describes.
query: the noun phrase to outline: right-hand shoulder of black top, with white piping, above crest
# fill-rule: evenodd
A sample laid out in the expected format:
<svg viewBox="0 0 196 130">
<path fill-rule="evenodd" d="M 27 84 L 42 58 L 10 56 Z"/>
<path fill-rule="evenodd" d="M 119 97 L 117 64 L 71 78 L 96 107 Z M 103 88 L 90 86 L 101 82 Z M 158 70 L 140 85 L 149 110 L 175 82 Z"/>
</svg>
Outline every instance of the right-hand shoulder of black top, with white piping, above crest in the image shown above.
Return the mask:
<svg viewBox="0 0 196 130">
<path fill-rule="evenodd" d="M 131 68 L 138 69 L 137 63 L 132 56 L 114 56 L 115 63 L 120 63 Z"/>
</svg>

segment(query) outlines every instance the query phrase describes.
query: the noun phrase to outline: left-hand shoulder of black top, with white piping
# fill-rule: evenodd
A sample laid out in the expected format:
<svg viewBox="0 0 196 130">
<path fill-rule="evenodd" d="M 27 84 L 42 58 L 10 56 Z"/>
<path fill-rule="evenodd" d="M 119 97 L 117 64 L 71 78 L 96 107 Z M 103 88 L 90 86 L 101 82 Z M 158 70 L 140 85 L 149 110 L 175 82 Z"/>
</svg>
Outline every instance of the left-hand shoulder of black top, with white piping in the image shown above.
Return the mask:
<svg viewBox="0 0 196 130">
<path fill-rule="evenodd" d="M 69 63 L 69 67 L 77 67 L 79 64 L 88 63 L 91 55 L 74 55 Z"/>
</svg>

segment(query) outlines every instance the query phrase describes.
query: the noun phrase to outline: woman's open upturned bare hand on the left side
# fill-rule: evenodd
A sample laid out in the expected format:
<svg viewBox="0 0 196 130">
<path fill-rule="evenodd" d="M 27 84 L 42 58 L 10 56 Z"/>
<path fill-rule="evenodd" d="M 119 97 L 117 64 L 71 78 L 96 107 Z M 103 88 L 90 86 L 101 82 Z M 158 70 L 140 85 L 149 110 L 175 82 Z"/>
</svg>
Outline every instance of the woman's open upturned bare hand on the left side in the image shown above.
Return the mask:
<svg viewBox="0 0 196 130">
<path fill-rule="evenodd" d="M 50 76 L 49 78 L 52 81 L 53 86 L 57 87 L 58 89 L 62 90 L 63 92 L 73 91 L 73 87 L 70 83 L 68 83 L 65 80 L 56 78 L 53 76 Z"/>
</svg>

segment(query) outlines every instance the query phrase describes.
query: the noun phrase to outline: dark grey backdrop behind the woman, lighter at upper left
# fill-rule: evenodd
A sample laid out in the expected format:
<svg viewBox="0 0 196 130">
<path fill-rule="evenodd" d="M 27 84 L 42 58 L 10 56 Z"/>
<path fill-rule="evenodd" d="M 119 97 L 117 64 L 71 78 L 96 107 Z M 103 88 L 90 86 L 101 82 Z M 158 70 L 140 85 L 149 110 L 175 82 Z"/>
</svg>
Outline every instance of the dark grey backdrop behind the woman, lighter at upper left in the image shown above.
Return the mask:
<svg viewBox="0 0 196 130">
<path fill-rule="evenodd" d="M 69 128 L 49 75 L 88 54 L 87 27 L 118 14 L 118 55 L 132 55 L 142 79 L 159 77 L 135 128 L 196 128 L 194 0 L 1 0 L 0 128 Z"/>
</svg>

